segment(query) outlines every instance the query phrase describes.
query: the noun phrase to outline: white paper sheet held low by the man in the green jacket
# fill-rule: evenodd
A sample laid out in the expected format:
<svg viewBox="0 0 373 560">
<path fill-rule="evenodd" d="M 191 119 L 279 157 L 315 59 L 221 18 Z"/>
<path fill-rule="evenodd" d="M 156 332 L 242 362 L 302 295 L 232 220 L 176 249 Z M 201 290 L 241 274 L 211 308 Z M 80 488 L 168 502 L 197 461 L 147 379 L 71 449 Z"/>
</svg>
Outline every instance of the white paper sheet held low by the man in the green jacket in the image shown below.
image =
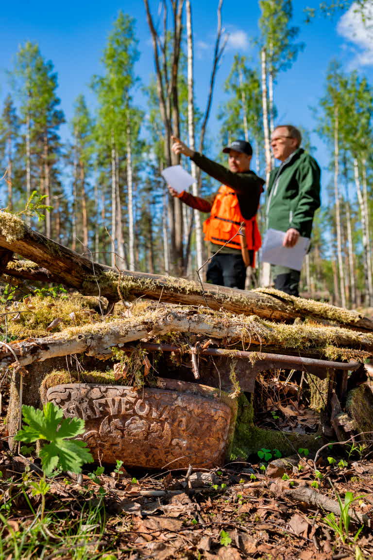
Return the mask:
<svg viewBox="0 0 373 560">
<path fill-rule="evenodd" d="M 281 264 L 294 270 L 301 270 L 302 263 L 310 240 L 308 237 L 299 237 L 294 247 L 284 247 L 285 233 L 270 228 L 263 239 L 262 261 L 271 264 Z"/>
</svg>

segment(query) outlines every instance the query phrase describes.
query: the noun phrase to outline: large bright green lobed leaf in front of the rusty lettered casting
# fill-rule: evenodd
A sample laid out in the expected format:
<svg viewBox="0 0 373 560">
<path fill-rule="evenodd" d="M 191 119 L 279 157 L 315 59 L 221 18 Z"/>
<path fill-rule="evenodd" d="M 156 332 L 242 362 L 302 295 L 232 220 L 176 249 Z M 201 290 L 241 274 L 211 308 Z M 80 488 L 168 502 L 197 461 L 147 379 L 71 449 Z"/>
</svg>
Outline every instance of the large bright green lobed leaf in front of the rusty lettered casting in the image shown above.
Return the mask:
<svg viewBox="0 0 373 560">
<path fill-rule="evenodd" d="M 23 405 L 22 416 L 27 425 L 17 432 L 17 441 L 26 444 L 49 441 L 39 452 L 41 466 L 47 477 L 58 464 L 63 470 L 81 473 L 84 463 L 93 462 L 85 442 L 70 440 L 84 432 L 84 420 L 81 418 L 63 418 L 63 410 L 53 403 L 46 403 L 43 410 Z"/>
</svg>

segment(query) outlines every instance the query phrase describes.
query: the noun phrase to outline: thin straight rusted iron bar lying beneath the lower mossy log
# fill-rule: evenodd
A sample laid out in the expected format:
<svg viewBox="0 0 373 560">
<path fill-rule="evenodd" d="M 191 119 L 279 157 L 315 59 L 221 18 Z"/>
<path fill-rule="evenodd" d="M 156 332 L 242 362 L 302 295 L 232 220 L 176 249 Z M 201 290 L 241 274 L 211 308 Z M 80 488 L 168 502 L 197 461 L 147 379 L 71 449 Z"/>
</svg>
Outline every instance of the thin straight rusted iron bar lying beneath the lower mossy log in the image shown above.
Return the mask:
<svg viewBox="0 0 373 560">
<path fill-rule="evenodd" d="M 150 351 L 162 351 L 162 352 L 181 352 L 181 348 L 173 346 L 172 344 L 155 344 L 153 342 L 143 342 L 141 343 L 141 348 Z M 183 352 L 188 352 L 184 350 Z M 325 370 L 343 370 L 343 371 L 353 371 L 357 370 L 359 363 L 355 361 L 351 362 L 329 362 L 326 360 L 315 360 L 315 358 L 303 358 L 301 356 L 286 356 L 285 354 L 267 354 L 265 352 L 245 352 L 243 350 L 222 350 L 220 348 L 206 348 L 205 350 L 200 350 L 200 354 L 204 356 L 224 356 L 232 358 L 244 358 L 250 360 L 253 358 L 253 363 L 260 361 L 266 361 L 267 363 L 273 363 L 268 369 L 274 367 L 284 367 L 291 369 L 298 369 L 300 371 L 309 371 L 309 368 L 323 368 Z M 267 367 L 266 367 L 267 368 Z M 313 372 L 312 372 L 313 373 Z"/>
</svg>

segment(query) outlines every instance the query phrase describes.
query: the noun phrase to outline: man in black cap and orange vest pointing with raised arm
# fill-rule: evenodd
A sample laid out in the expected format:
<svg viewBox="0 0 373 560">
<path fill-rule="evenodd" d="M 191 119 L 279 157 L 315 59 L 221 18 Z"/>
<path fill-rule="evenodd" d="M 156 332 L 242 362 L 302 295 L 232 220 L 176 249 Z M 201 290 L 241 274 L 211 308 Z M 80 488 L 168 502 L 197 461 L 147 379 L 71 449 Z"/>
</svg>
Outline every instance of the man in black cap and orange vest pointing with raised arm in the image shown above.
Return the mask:
<svg viewBox="0 0 373 560">
<path fill-rule="evenodd" d="M 185 190 L 177 193 L 168 186 L 173 197 L 201 212 L 211 212 L 204 223 L 205 240 L 214 255 L 207 268 L 207 282 L 244 290 L 246 268 L 255 266 L 255 253 L 261 246 L 256 213 L 265 182 L 250 169 L 252 147 L 249 142 L 235 140 L 224 148 L 223 152 L 229 153 L 226 169 L 180 139 L 173 136 L 172 140 L 174 153 L 190 157 L 202 171 L 221 182 L 212 203 Z"/>
</svg>

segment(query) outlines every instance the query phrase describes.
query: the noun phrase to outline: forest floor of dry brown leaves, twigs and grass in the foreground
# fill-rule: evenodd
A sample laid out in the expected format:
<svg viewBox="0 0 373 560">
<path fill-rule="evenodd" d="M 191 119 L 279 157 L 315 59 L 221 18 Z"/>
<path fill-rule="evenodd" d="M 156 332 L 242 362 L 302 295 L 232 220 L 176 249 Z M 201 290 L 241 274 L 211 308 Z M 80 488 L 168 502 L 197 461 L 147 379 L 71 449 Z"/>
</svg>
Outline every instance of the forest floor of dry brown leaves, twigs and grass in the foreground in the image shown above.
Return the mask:
<svg viewBox="0 0 373 560">
<path fill-rule="evenodd" d="M 1 559 L 373 558 L 369 448 L 326 449 L 317 470 L 303 450 L 287 474 L 268 456 L 266 470 L 258 458 L 188 472 L 90 466 L 82 475 L 48 479 L 43 515 L 35 491 L 40 460 L 32 452 L 26 456 L 24 448 L 21 455 L 10 454 L 4 423 L 0 438 Z M 297 489 L 300 494 L 291 496 Z M 331 498 L 337 514 L 343 509 L 337 496 L 355 501 L 344 515 L 333 516 L 329 502 L 323 507 L 303 500 L 305 491 L 321 501 Z M 365 514 L 362 523 L 351 520 L 352 510 Z"/>
</svg>

